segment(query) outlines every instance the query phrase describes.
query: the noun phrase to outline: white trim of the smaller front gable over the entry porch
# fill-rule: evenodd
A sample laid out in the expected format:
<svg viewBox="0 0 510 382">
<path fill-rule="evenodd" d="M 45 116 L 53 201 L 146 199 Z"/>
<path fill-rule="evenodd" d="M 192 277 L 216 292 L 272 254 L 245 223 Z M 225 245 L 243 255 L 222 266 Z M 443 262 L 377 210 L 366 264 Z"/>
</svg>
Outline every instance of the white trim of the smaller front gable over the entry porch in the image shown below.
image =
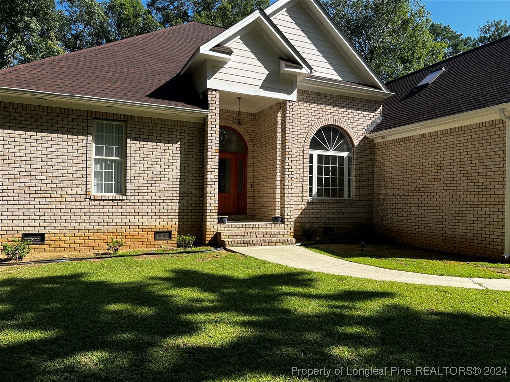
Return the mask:
<svg viewBox="0 0 510 382">
<path fill-rule="evenodd" d="M 211 52 L 211 48 L 217 45 L 225 45 L 228 43 L 237 40 L 242 34 L 243 30 L 247 31 L 248 26 L 251 23 L 258 23 L 262 26 L 264 31 L 272 38 L 272 40 L 276 43 L 278 47 L 280 47 L 286 54 L 289 55 L 288 59 L 293 59 L 297 63 L 299 63 L 304 69 L 306 74 L 311 74 L 313 72 L 312 66 L 301 56 L 301 53 L 297 51 L 297 49 L 290 43 L 290 41 L 285 37 L 285 35 L 280 31 L 276 25 L 271 21 L 271 19 L 264 13 L 264 11 L 258 10 L 245 17 L 237 24 L 231 26 L 231 28 L 226 31 L 220 33 L 218 36 L 209 40 L 207 43 L 199 46 L 197 50 L 193 53 L 193 56 L 188 60 L 186 65 L 181 69 L 181 74 L 184 74 L 186 70 L 190 67 L 190 65 L 199 58 L 200 55 L 207 57 L 218 57 L 217 52 Z M 228 62 L 230 57 L 226 54 L 221 54 L 220 61 Z"/>
</svg>

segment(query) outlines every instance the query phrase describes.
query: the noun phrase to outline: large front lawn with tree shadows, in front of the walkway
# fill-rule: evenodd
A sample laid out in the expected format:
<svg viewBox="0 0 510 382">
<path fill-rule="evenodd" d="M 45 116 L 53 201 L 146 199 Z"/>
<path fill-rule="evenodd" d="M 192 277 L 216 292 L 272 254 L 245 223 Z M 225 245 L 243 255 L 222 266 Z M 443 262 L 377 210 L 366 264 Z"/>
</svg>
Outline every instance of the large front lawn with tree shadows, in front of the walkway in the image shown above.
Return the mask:
<svg viewBox="0 0 510 382">
<path fill-rule="evenodd" d="M 365 379 L 346 367 L 510 373 L 508 292 L 327 275 L 226 253 L 15 266 L 2 268 L 1 282 L 2 382 L 300 380 L 293 366 L 344 367 L 313 380 Z"/>
</svg>

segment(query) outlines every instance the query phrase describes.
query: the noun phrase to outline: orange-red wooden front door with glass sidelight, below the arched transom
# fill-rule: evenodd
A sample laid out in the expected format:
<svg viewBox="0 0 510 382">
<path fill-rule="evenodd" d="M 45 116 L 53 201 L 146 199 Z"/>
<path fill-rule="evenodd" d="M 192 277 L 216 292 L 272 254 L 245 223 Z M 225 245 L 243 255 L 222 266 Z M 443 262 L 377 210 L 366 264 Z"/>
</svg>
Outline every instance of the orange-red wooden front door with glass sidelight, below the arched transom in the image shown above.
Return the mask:
<svg viewBox="0 0 510 382">
<path fill-rule="evenodd" d="M 218 163 L 218 213 L 246 213 L 246 154 L 220 152 Z"/>
</svg>

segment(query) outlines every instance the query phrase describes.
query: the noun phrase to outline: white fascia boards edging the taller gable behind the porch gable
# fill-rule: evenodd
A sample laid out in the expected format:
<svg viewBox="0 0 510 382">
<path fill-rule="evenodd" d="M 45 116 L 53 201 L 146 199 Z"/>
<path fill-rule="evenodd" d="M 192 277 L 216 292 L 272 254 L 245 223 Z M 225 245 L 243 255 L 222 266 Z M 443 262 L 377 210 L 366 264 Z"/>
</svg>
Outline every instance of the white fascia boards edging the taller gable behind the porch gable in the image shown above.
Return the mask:
<svg viewBox="0 0 510 382">
<path fill-rule="evenodd" d="M 288 6 L 289 3 L 294 3 L 292 0 L 288 1 L 278 1 L 274 3 L 272 6 L 266 9 L 266 13 L 268 15 L 275 15 L 275 13 L 278 10 L 281 10 L 283 7 Z M 386 87 L 384 82 L 379 78 L 379 76 L 373 71 L 371 66 L 367 63 L 367 61 L 361 56 L 360 52 L 354 48 L 352 43 L 349 41 L 349 39 L 343 34 L 343 32 L 338 28 L 338 25 L 333 21 L 331 16 L 327 14 L 327 12 L 322 8 L 320 5 L 317 4 L 315 0 L 313 1 L 305 1 L 301 2 L 301 5 L 305 7 L 309 7 L 309 9 L 316 15 L 320 15 L 322 18 L 322 21 L 329 25 L 329 27 L 335 31 L 336 36 L 332 36 L 334 40 L 340 41 L 340 45 L 344 46 L 347 50 L 349 50 L 352 54 L 352 56 L 356 57 L 358 59 L 359 64 L 362 66 L 362 68 L 365 70 L 365 72 L 375 81 L 375 83 L 378 85 L 378 87 L 385 92 L 390 92 L 390 90 Z M 354 63 L 355 64 L 355 63 Z"/>
</svg>

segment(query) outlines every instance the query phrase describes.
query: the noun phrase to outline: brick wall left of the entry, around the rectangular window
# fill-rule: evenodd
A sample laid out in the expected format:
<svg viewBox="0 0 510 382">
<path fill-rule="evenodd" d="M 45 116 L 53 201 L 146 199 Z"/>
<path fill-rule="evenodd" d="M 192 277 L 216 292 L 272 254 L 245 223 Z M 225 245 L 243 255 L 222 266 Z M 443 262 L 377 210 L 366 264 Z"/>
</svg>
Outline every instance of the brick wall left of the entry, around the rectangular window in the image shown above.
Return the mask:
<svg viewBox="0 0 510 382">
<path fill-rule="evenodd" d="M 36 251 L 170 246 L 154 231 L 200 238 L 203 124 L 2 103 L 1 240 L 46 233 Z M 126 196 L 90 195 L 92 120 L 126 123 Z"/>
</svg>

